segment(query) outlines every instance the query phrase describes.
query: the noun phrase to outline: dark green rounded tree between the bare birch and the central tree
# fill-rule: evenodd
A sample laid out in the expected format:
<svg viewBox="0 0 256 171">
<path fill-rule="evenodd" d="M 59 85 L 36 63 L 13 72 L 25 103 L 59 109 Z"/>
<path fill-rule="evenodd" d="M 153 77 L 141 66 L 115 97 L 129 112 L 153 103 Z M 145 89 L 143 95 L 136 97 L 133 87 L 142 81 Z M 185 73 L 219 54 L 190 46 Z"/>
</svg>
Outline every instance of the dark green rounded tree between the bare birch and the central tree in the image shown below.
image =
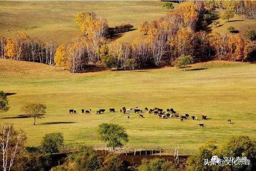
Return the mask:
<svg viewBox="0 0 256 171">
<path fill-rule="evenodd" d="M 45 153 L 58 153 L 59 148 L 64 146 L 63 133 L 46 133 L 41 142 L 42 151 Z"/>
</svg>

